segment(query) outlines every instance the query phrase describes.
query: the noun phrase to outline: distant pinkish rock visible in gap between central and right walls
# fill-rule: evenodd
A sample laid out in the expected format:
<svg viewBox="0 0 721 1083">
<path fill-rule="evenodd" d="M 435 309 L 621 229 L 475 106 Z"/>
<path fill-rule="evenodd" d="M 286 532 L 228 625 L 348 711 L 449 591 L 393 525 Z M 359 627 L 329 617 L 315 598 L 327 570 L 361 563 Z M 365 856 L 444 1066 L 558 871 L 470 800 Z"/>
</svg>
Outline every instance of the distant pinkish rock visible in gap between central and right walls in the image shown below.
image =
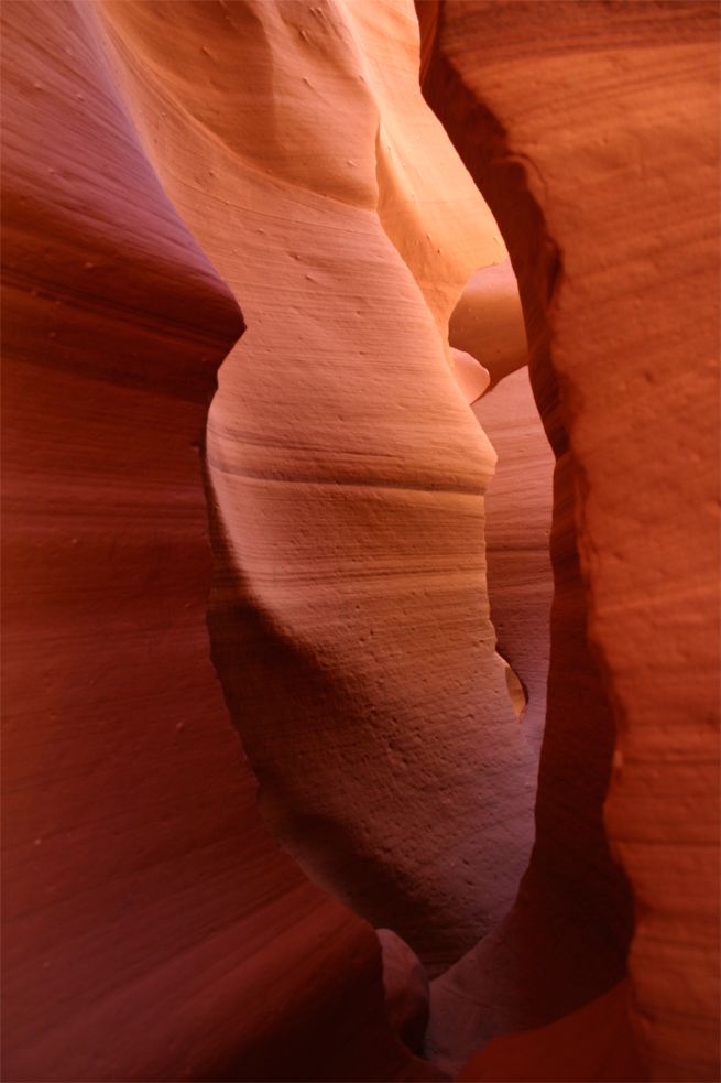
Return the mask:
<svg viewBox="0 0 721 1083">
<path fill-rule="evenodd" d="M 499 456 L 485 496 L 491 621 L 500 653 L 520 678 L 514 692 L 524 733 L 539 754 L 553 599 L 554 455 L 528 380 L 523 311 L 510 260 L 471 275 L 451 313 L 449 340 L 488 372 L 488 387 L 474 386 L 469 399 Z"/>
</svg>

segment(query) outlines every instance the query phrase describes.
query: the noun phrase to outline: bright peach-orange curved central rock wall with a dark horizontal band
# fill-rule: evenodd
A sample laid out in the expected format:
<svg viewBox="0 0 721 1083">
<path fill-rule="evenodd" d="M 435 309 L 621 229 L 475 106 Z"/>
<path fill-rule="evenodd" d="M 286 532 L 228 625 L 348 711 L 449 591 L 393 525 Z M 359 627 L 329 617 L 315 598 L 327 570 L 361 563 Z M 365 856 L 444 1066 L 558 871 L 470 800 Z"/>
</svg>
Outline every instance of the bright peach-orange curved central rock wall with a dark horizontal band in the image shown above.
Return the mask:
<svg viewBox="0 0 721 1083">
<path fill-rule="evenodd" d="M 532 838 L 488 619 L 494 455 L 446 364 L 470 272 L 505 249 L 420 97 L 411 4 L 102 11 L 248 323 L 209 416 L 210 628 L 261 804 L 438 970 L 507 909 Z"/>
</svg>

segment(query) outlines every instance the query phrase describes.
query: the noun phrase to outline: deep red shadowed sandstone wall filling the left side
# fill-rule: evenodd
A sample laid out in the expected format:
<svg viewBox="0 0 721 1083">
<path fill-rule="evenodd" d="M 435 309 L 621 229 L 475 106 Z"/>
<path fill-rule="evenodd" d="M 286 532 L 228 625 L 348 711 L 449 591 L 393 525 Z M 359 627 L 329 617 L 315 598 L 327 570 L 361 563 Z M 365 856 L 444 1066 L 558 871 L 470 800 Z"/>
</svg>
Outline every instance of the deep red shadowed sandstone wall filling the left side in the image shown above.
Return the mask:
<svg viewBox="0 0 721 1083">
<path fill-rule="evenodd" d="M 197 448 L 238 305 L 94 9 L 2 14 L 3 1077 L 436 1079 L 373 932 L 262 826 L 210 664 Z"/>
</svg>

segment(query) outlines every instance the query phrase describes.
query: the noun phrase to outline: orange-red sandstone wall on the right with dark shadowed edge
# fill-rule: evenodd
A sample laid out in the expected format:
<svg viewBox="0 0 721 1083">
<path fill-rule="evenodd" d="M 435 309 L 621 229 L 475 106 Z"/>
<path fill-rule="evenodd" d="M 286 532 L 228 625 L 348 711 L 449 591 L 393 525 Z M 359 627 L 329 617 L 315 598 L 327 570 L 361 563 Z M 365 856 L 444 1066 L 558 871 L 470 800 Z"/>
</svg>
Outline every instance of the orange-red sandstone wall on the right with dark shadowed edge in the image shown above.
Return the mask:
<svg viewBox="0 0 721 1083">
<path fill-rule="evenodd" d="M 577 898 L 593 884 L 597 928 L 621 933 L 621 896 L 598 865 L 605 689 L 618 726 L 605 824 L 636 900 L 632 1029 L 653 1079 L 715 1080 L 718 11 L 449 2 L 420 14 L 425 91 L 504 232 L 559 456 L 532 870 L 562 843 L 557 874 Z M 568 653 L 585 598 L 603 667 L 593 701 L 592 659 L 578 640 Z"/>
</svg>

